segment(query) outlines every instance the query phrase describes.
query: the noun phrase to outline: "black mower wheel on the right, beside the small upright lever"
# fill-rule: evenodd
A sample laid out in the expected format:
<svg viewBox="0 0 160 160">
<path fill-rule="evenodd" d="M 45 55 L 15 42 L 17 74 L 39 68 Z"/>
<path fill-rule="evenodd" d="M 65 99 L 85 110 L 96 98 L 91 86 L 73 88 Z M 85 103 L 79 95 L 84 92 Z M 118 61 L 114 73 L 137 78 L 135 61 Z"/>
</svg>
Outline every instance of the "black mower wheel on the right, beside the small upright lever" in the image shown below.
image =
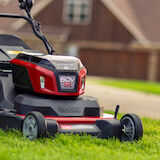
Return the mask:
<svg viewBox="0 0 160 160">
<path fill-rule="evenodd" d="M 143 136 L 143 125 L 140 118 L 135 114 L 125 114 L 121 120 L 122 141 L 139 140 Z"/>
</svg>

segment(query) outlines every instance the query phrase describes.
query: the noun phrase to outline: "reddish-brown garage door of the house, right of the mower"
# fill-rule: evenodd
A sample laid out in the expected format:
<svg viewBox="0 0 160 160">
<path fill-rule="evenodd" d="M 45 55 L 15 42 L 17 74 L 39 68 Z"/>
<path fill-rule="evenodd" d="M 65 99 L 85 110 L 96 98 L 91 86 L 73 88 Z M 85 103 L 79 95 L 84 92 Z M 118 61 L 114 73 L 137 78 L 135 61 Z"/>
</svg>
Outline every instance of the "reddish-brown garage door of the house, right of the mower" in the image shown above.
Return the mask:
<svg viewBox="0 0 160 160">
<path fill-rule="evenodd" d="M 147 80 L 149 52 L 81 49 L 89 75 Z"/>
</svg>

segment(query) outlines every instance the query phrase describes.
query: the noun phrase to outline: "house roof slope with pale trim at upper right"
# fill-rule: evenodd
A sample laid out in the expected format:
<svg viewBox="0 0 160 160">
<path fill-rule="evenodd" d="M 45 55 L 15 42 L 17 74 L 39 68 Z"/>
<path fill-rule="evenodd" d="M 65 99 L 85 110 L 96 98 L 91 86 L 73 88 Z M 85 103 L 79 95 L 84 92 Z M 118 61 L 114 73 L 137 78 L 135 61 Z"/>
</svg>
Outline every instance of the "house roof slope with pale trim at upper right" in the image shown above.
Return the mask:
<svg viewBox="0 0 160 160">
<path fill-rule="evenodd" d="M 142 44 L 160 42 L 159 0 L 101 0 Z"/>
</svg>

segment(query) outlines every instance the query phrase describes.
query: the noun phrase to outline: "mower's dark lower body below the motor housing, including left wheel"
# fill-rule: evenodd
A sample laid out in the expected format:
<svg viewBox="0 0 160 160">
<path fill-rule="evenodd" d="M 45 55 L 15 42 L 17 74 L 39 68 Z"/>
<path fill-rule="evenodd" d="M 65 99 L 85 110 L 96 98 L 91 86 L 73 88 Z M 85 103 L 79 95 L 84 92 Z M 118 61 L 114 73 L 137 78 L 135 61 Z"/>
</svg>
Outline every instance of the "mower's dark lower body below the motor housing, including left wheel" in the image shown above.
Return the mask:
<svg viewBox="0 0 160 160">
<path fill-rule="evenodd" d="M 11 73 L 0 75 L 0 93 L 0 128 L 3 130 L 22 130 L 29 139 L 34 139 L 33 135 L 40 132 L 33 132 L 39 125 L 43 128 L 39 137 L 56 133 L 122 137 L 121 122 L 113 115 L 103 114 L 103 108 L 93 97 L 68 98 L 17 92 Z"/>
</svg>

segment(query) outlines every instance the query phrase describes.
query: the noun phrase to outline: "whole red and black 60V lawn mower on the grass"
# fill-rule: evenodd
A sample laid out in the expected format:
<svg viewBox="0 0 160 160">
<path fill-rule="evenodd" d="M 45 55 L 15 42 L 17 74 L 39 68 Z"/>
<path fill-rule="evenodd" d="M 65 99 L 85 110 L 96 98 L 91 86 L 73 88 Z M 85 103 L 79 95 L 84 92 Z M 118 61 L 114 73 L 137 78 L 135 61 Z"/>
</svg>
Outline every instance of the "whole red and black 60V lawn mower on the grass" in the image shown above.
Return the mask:
<svg viewBox="0 0 160 160">
<path fill-rule="evenodd" d="M 28 21 L 47 50 L 44 54 L 16 36 L 0 35 L 0 128 L 21 130 L 30 140 L 57 133 L 141 139 L 137 115 L 125 114 L 118 120 L 119 105 L 115 115 L 105 114 L 96 98 L 83 95 L 86 68 L 76 57 L 56 54 L 31 16 L 32 5 L 32 0 L 19 0 L 26 15 L 0 14 Z"/>
</svg>

